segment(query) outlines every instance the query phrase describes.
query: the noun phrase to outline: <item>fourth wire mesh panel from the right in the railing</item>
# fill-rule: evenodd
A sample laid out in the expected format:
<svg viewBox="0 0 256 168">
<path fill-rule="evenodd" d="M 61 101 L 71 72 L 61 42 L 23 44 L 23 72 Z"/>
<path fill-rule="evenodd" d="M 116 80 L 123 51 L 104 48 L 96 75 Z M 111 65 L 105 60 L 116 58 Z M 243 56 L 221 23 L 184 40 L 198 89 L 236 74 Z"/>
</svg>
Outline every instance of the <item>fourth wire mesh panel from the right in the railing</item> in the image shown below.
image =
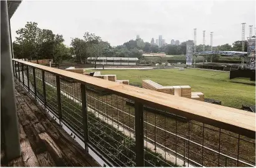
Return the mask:
<svg viewBox="0 0 256 168">
<path fill-rule="evenodd" d="M 58 111 L 57 103 L 57 88 L 56 76 L 52 73 L 45 72 L 45 93 L 46 93 L 46 106 L 50 108 L 55 114 Z"/>
</svg>

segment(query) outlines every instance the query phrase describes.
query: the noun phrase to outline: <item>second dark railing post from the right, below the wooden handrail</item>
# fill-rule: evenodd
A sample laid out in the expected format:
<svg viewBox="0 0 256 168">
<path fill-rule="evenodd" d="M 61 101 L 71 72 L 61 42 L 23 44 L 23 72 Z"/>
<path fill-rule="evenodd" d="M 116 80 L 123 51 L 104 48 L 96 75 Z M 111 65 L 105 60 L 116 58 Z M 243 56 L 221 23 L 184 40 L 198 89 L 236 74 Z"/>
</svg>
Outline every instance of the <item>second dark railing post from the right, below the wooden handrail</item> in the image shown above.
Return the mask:
<svg viewBox="0 0 256 168">
<path fill-rule="evenodd" d="M 82 115 L 83 115 L 83 138 L 85 139 L 85 150 L 88 151 L 88 116 L 87 116 L 87 98 L 86 98 L 86 88 L 84 84 L 81 87 L 81 100 L 82 100 Z"/>
</svg>

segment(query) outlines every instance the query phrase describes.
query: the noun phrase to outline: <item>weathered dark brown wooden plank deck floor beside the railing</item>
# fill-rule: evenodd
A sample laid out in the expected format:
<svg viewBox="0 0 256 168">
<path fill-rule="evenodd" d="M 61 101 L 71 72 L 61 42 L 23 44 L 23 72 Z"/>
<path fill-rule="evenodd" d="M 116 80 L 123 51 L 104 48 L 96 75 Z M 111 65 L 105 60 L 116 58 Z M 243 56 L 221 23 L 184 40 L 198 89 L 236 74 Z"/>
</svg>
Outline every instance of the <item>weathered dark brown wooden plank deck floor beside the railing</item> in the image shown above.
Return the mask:
<svg viewBox="0 0 256 168">
<path fill-rule="evenodd" d="M 15 91 L 22 156 L 5 162 L 1 152 L 1 166 L 100 167 L 17 83 Z"/>
</svg>

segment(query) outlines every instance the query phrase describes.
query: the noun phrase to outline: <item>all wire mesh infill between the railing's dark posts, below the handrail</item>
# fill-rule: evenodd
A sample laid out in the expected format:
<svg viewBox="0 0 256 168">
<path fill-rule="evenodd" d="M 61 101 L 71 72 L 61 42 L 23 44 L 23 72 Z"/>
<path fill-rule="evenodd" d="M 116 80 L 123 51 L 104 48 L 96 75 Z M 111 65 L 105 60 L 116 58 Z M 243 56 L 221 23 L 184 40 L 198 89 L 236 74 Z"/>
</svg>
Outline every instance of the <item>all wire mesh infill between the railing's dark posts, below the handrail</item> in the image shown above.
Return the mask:
<svg viewBox="0 0 256 168">
<path fill-rule="evenodd" d="M 44 101 L 42 74 L 36 68 L 37 96 Z M 56 76 L 49 72 L 44 75 L 46 106 L 58 114 Z M 29 81 L 34 86 L 31 67 Z M 255 166 L 255 139 L 153 106 L 143 105 L 143 111 L 135 113 L 133 100 L 88 84 L 85 100 L 88 143 L 115 166 L 136 166 L 135 114 L 140 112 L 145 166 Z M 60 77 L 60 104 L 62 119 L 83 136 L 81 84 Z"/>
</svg>

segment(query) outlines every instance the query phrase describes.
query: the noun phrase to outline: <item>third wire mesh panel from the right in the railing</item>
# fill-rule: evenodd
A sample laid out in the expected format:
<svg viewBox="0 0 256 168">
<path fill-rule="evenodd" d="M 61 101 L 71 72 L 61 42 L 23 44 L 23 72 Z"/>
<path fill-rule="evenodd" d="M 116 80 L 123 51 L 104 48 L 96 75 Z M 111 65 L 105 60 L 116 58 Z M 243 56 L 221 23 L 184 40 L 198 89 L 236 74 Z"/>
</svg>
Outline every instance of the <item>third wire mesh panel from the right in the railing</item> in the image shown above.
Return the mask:
<svg viewBox="0 0 256 168">
<path fill-rule="evenodd" d="M 62 117 L 75 131 L 83 134 L 80 83 L 60 78 Z"/>
</svg>

